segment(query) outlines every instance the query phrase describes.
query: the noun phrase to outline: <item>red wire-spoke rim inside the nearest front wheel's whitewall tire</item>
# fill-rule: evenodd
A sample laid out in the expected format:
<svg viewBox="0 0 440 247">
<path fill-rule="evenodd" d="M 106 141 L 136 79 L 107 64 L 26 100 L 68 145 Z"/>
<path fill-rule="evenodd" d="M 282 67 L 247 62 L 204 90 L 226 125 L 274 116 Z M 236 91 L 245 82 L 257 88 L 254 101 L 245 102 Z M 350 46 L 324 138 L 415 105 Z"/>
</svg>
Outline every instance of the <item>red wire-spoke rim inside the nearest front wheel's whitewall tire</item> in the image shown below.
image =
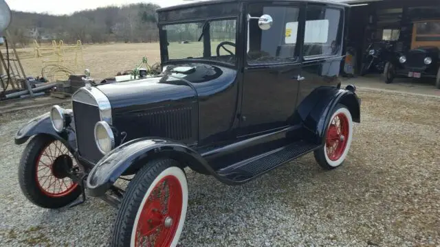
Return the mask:
<svg viewBox="0 0 440 247">
<path fill-rule="evenodd" d="M 166 176 L 148 195 L 137 222 L 135 246 L 170 246 L 179 225 L 183 194 L 179 180 Z"/>
</svg>

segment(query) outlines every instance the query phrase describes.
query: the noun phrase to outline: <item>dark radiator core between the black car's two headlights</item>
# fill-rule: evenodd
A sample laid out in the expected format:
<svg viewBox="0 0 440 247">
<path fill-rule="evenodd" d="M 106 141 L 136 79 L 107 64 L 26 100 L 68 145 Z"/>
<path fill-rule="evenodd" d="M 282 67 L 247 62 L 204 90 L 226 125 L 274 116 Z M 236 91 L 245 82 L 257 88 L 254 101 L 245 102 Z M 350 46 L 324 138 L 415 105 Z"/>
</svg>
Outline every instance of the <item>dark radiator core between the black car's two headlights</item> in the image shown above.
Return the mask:
<svg viewBox="0 0 440 247">
<path fill-rule="evenodd" d="M 72 103 L 72 108 L 74 111 L 78 152 L 82 158 L 97 163 L 103 156 L 96 146 L 94 137 L 95 124 L 100 121 L 99 108 L 98 106 L 76 101 Z"/>
</svg>

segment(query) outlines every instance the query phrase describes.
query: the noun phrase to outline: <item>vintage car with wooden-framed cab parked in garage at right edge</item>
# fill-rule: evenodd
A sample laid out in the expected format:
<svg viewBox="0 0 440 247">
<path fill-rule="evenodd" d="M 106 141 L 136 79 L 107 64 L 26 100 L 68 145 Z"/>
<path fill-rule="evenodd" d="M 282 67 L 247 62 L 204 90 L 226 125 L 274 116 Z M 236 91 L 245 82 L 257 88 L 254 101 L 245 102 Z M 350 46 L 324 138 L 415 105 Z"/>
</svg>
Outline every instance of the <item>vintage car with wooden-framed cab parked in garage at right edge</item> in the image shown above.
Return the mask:
<svg viewBox="0 0 440 247">
<path fill-rule="evenodd" d="M 432 78 L 440 89 L 440 20 L 415 21 L 411 49 L 388 60 L 384 81 L 395 78 Z"/>
</svg>

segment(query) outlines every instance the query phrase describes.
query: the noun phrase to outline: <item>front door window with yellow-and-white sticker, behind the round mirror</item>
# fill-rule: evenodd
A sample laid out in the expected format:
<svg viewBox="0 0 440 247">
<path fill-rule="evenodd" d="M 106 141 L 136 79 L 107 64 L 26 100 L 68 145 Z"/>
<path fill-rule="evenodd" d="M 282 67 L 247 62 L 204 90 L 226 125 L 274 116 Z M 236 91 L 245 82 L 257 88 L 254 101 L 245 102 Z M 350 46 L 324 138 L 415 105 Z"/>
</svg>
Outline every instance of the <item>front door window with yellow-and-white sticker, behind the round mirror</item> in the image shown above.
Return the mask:
<svg viewBox="0 0 440 247">
<path fill-rule="evenodd" d="M 290 62 L 295 56 L 299 8 L 251 5 L 251 16 L 272 16 L 269 30 L 261 30 L 258 21 L 249 21 L 248 64 Z M 295 24 L 296 23 L 296 24 Z"/>
</svg>

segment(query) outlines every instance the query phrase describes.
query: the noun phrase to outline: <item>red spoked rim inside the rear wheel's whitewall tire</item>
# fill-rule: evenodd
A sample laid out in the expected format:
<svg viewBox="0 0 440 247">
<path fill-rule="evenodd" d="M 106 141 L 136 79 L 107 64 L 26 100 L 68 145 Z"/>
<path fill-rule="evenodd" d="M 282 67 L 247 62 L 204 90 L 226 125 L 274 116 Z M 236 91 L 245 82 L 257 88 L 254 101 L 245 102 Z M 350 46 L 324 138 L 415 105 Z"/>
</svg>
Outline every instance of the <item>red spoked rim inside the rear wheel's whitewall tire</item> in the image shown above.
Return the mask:
<svg viewBox="0 0 440 247">
<path fill-rule="evenodd" d="M 331 161 L 338 161 L 344 154 L 349 136 L 349 119 L 344 113 L 339 113 L 333 119 L 327 130 L 326 152 Z"/>
</svg>

